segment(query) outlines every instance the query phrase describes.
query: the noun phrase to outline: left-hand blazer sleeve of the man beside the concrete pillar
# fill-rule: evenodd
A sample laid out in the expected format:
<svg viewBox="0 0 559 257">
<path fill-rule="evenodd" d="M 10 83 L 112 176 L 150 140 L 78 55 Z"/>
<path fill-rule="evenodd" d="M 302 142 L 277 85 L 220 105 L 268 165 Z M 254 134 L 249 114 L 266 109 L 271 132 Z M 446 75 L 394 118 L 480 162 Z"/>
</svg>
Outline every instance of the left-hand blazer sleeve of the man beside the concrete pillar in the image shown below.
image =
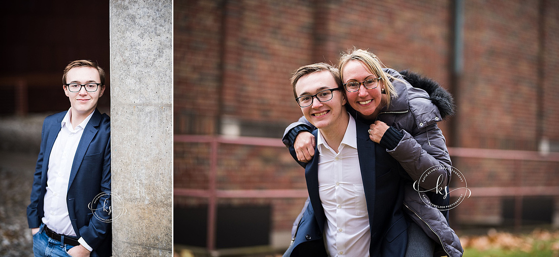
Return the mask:
<svg viewBox="0 0 559 257">
<path fill-rule="evenodd" d="M 37 157 L 37 163 L 35 165 L 35 173 L 33 174 L 33 185 L 31 187 L 31 203 L 27 206 L 27 224 L 29 228 L 33 229 L 41 225 L 41 217 L 39 211 L 37 210 L 37 205 L 39 205 L 39 200 L 41 197 L 41 179 L 42 179 L 42 163 L 45 154 L 46 140 L 48 139 L 48 133 L 45 135 L 46 119 L 42 123 L 41 129 L 41 147 L 39 151 L 39 157 Z"/>
</svg>

